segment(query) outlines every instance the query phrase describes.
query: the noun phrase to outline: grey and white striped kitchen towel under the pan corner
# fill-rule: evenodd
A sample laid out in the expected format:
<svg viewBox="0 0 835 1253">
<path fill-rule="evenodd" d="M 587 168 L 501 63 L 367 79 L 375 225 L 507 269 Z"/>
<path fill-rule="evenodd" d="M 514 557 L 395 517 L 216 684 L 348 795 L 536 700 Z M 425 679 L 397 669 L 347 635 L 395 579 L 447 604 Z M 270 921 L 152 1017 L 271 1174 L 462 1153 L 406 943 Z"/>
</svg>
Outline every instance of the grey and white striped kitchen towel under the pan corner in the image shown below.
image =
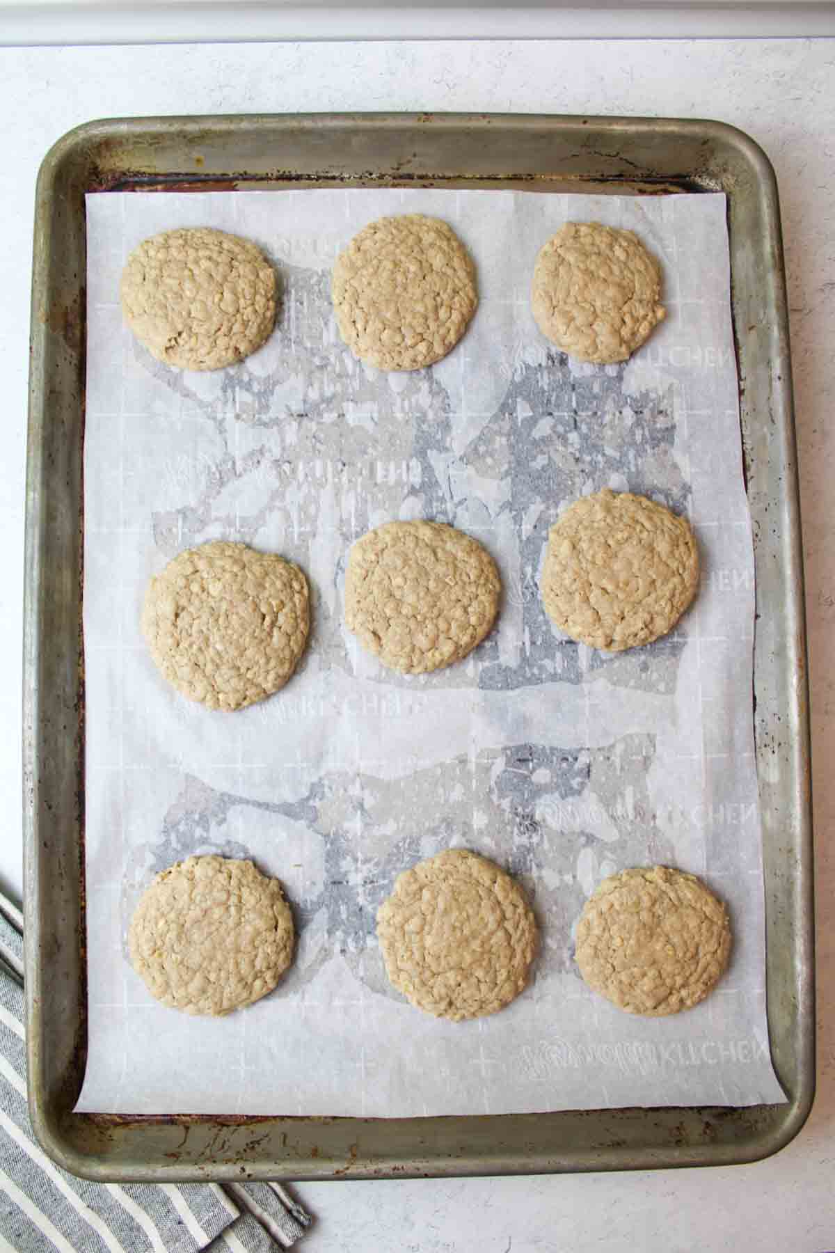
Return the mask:
<svg viewBox="0 0 835 1253">
<path fill-rule="evenodd" d="M 279 1184 L 89 1183 L 33 1135 L 23 916 L 0 895 L 0 1253 L 277 1253 L 309 1215 Z"/>
</svg>

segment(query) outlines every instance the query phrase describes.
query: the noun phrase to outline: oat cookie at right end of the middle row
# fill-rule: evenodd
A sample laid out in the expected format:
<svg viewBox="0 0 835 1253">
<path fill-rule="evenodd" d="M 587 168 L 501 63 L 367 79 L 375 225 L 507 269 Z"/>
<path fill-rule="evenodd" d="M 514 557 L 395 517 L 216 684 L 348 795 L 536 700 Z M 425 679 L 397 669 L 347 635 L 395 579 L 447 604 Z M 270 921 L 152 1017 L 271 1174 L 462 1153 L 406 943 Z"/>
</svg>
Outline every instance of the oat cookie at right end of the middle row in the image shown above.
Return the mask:
<svg viewBox="0 0 835 1253">
<path fill-rule="evenodd" d="M 548 531 L 540 589 L 572 639 L 617 653 L 666 635 L 699 588 L 686 517 L 608 487 L 571 505 Z"/>
</svg>

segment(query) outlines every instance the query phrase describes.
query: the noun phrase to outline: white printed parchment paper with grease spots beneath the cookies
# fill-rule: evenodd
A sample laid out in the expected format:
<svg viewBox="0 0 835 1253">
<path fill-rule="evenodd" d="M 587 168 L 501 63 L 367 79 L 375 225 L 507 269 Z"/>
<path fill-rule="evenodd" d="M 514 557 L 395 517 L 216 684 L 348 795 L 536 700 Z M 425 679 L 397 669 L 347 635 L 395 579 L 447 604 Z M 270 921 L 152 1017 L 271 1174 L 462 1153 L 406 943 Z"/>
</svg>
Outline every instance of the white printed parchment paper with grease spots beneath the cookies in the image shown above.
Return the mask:
<svg viewBox="0 0 835 1253">
<path fill-rule="evenodd" d="M 89 1060 L 83 1110 L 421 1115 L 782 1100 L 765 1021 L 752 743 L 754 564 L 742 484 L 722 195 L 304 190 L 89 195 L 85 442 Z M 439 365 L 382 375 L 342 345 L 337 251 L 384 213 L 451 222 L 481 304 Z M 638 232 L 666 322 L 625 366 L 552 350 L 528 306 L 567 219 Z M 121 266 L 156 231 L 257 241 L 284 288 L 248 361 L 183 373 L 123 328 Z M 561 637 L 538 595 L 550 524 L 603 486 L 694 521 L 697 601 L 648 648 Z M 464 663 L 404 678 L 343 625 L 353 540 L 429 517 L 481 539 L 505 585 Z M 244 540 L 313 589 L 307 657 L 278 695 L 209 713 L 169 689 L 139 632 L 148 579 L 182 549 Z M 532 986 L 451 1024 L 389 987 L 374 915 L 396 875 L 466 846 L 528 890 Z M 195 852 L 253 857 L 293 902 L 298 956 L 227 1019 L 155 1004 L 125 956 L 151 876 Z M 642 1020 L 581 982 L 573 927 L 617 870 L 666 863 L 727 902 L 732 964 L 690 1012 Z"/>
</svg>

